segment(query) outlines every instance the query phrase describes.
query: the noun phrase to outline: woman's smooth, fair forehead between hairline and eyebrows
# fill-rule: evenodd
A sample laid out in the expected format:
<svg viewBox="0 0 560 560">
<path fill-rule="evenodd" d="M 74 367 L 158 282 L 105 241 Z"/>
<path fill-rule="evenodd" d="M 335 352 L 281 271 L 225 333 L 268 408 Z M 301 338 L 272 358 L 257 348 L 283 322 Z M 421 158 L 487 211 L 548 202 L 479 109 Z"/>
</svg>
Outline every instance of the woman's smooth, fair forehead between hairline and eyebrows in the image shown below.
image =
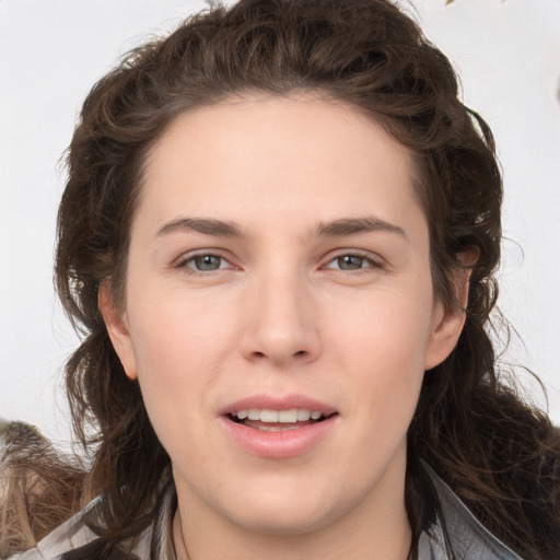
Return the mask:
<svg viewBox="0 0 560 560">
<path fill-rule="evenodd" d="M 410 205 L 419 208 L 413 177 L 411 152 L 359 109 L 311 94 L 254 94 L 175 118 L 148 155 L 140 211 L 154 222 L 184 211 L 293 224 L 364 212 L 406 221 Z"/>
</svg>

